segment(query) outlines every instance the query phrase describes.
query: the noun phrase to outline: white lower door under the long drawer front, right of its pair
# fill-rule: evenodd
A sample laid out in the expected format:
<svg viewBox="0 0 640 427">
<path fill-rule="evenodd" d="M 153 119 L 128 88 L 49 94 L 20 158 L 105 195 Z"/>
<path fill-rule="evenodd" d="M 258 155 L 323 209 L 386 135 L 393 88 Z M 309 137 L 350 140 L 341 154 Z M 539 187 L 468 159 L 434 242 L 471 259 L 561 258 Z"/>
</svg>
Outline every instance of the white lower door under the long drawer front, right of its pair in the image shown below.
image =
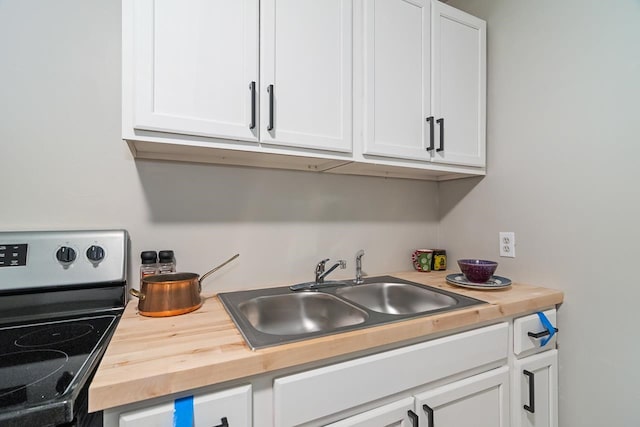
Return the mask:
<svg viewBox="0 0 640 427">
<path fill-rule="evenodd" d="M 509 369 L 502 367 L 416 396 L 420 427 L 508 427 Z"/>
</svg>

